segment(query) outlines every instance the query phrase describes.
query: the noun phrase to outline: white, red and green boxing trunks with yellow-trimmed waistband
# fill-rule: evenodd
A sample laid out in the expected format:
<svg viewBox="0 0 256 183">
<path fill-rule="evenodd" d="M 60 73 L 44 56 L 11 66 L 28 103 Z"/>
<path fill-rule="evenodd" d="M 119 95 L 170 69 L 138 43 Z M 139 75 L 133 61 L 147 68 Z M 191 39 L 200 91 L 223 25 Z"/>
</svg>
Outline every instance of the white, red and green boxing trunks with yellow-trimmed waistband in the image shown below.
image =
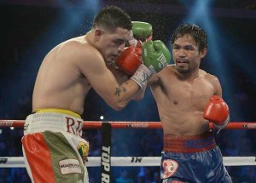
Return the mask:
<svg viewBox="0 0 256 183">
<path fill-rule="evenodd" d="M 32 182 L 89 182 L 82 128 L 83 119 L 68 110 L 42 109 L 26 117 L 21 141 Z"/>
</svg>

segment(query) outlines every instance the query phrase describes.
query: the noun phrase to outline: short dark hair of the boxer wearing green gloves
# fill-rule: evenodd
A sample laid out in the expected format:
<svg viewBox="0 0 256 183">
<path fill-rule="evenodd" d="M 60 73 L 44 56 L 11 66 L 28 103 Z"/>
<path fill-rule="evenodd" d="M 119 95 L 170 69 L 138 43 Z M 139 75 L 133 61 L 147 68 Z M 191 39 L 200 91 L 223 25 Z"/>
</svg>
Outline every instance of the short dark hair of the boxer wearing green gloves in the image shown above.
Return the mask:
<svg viewBox="0 0 256 183">
<path fill-rule="evenodd" d="M 92 27 L 100 27 L 106 31 L 115 31 L 120 27 L 131 31 L 131 17 L 123 9 L 116 6 L 107 6 L 96 14 Z"/>
</svg>

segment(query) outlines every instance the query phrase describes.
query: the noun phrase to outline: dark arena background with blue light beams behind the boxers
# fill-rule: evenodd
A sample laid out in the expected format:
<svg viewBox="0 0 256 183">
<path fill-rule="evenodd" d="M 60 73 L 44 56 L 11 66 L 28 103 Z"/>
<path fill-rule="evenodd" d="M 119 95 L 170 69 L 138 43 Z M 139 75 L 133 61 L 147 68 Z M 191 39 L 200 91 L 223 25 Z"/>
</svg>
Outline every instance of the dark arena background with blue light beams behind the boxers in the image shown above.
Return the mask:
<svg viewBox="0 0 256 183">
<path fill-rule="evenodd" d="M 205 12 L 201 11 L 200 2 L 208 2 Z M 1 1 L 1 119 L 26 118 L 32 109 L 33 84 L 45 54 L 56 44 L 89 31 L 94 15 L 103 6 L 110 4 L 125 9 L 132 20 L 147 21 L 152 24 L 154 39 L 163 40 L 169 47 L 168 41 L 172 32 L 180 24 L 189 22 L 202 26 L 208 33 L 209 44 L 208 54 L 202 61 L 201 68 L 217 76 L 222 84 L 224 100 L 230 106 L 231 122 L 255 122 L 256 3 L 253 0 Z M 203 7 L 206 8 L 206 6 Z M 196 16 L 196 14 L 199 15 Z M 91 90 L 86 98 L 83 118 L 99 121 L 100 116 L 104 116 L 104 120 L 109 121 L 159 121 L 157 108 L 149 89 L 142 101 L 132 101 L 121 112 L 113 111 Z M 131 141 L 128 140 L 125 143 L 131 146 L 134 146 L 132 141 L 144 138 L 148 134 L 154 133 L 153 136 L 161 136 L 160 130 L 148 131 L 144 131 L 142 135 L 136 130 L 132 132 L 115 130 L 113 135 L 116 135 L 118 140 L 113 140 L 113 143 L 116 143 L 114 146 L 117 149 L 123 148 L 118 145 L 122 146 L 124 143 L 122 139 L 127 139 L 125 135 L 130 135 L 128 139 Z M 85 138 L 95 140 L 97 136 L 95 130 L 91 130 L 91 134 L 86 133 L 88 136 Z M 15 137 L 6 139 L 4 134 L 10 136 L 15 134 Z M 0 143 L 4 144 L 5 140 L 10 140 L 10 143 L 16 146 L 16 152 L 9 152 L 13 150 L 11 145 L 7 146 L 9 151 L 5 151 L 4 147 L 0 146 L 1 157 L 12 154 L 22 156 L 21 135 L 20 132 L 2 129 Z M 224 130 L 217 140 L 224 156 L 255 156 L 255 130 Z M 96 144 L 100 146 L 100 141 Z M 97 147 L 93 148 L 97 149 Z M 120 153 L 119 156 L 136 156 L 140 153 L 136 148 L 132 152 L 123 151 L 127 154 Z M 160 149 L 158 152 L 153 152 L 149 153 L 150 156 L 152 154 L 160 156 Z M 115 152 L 113 155 L 116 155 Z M 251 174 L 246 170 L 247 167 L 228 169 L 234 177 L 234 182 L 236 180 L 250 182 L 238 174 L 238 172 L 245 172 L 245 177 L 252 178 L 255 176 L 255 167 L 250 168 L 253 169 Z M 9 170 L 0 170 L 10 174 Z M 136 174 L 134 170 L 128 170 L 131 175 Z M 138 169 L 136 171 L 139 172 Z M 119 172 L 117 171 L 116 174 Z M 12 180 L 6 181 L 12 182 Z M 134 180 L 134 182 L 137 181 Z"/>
</svg>

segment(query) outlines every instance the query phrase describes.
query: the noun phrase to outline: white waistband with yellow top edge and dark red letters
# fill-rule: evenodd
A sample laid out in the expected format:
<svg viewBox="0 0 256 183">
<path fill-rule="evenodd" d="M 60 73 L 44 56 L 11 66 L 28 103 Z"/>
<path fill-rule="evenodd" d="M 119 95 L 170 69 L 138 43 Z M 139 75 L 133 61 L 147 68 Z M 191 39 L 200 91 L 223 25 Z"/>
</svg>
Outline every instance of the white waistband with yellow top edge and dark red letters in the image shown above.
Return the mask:
<svg viewBox="0 0 256 183">
<path fill-rule="evenodd" d="M 63 109 L 40 109 L 26 117 L 24 134 L 50 130 L 82 136 L 83 119 L 79 114 Z"/>
</svg>

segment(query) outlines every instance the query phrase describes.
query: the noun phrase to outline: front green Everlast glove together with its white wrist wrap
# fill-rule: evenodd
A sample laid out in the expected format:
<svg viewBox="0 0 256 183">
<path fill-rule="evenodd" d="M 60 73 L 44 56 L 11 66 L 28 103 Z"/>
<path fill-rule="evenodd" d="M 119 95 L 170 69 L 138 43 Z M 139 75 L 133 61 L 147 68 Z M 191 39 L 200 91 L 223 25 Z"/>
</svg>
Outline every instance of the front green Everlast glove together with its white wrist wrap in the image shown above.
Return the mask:
<svg viewBox="0 0 256 183">
<path fill-rule="evenodd" d="M 164 69 L 171 60 L 171 53 L 160 40 L 148 41 L 143 45 L 143 64 L 131 77 L 143 89 L 152 74 Z"/>
</svg>

